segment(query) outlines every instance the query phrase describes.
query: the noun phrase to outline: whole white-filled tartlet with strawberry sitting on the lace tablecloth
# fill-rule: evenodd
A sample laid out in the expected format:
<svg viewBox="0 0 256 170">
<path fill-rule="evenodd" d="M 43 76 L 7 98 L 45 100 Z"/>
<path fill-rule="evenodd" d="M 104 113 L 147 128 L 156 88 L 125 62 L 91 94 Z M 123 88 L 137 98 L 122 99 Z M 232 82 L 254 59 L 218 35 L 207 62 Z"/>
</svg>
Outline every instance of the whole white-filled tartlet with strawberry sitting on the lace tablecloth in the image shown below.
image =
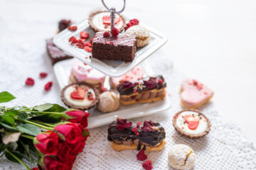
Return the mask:
<svg viewBox="0 0 256 170">
<path fill-rule="evenodd" d="M 203 137 L 210 132 L 210 121 L 195 109 L 185 109 L 174 115 L 173 125 L 182 136 L 190 139 Z"/>
</svg>

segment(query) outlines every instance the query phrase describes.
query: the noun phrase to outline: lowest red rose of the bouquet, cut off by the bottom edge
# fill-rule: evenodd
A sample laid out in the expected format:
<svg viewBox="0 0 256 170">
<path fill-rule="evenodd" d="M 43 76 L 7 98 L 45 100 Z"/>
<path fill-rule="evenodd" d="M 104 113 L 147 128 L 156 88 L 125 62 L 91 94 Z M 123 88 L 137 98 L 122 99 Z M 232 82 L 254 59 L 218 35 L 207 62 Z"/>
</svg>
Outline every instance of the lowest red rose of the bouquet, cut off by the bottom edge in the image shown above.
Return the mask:
<svg viewBox="0 0 256 170">
<path fill-rule="evenodd" d="M 43 169 L 44 170 L 65 170 L 67 169 L 67 166 L 63 164 L 63 162 L 60 162 L 58 159 L 55 159 L 55 157 L 51 157 L 50 155 L 45 155 L 43 157 Z"/>
</svg>

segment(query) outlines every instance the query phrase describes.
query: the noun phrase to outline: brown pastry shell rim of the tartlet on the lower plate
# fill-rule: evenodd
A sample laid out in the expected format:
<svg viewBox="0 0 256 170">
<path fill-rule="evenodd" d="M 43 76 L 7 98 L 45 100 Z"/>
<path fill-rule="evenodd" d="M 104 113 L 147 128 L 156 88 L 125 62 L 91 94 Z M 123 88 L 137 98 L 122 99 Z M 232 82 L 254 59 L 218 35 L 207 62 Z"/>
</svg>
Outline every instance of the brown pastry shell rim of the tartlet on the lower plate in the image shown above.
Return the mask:
<svg viewBox="0 0 256 170">
<path fill-rule="evenodd" d="M 64 96 L 64 91 L 65 89 L 67 89 L 69 86 L 73 86 L 73 85 L 85 85 L 85 86 L 90 86 L 90 88 L 93 89 L 93 91 L 95 92 L 95 101 L 93 103 L 91 103 L 89 106 L 86 106 L 86 107 L 82 107 L 82 106 L 75 106 L 71 103 L 69 103 L 66 99 L 65 99 L 65 96 Z M 96 104 L 98 103 L 99 101 L 99 95 L 100 95 L 100 92 L 95 89 L 94 87 L 92 87 L 90 84 L 86 84 L 84 82 L 81 82 L 81 83 L 74 83 L 74 84 L 68 84 L 68 86 L 65 86 L 62 91 L 60 92 L 60 98 L 61 100 L 63 101 L 63 103 L 65 104 L 65 106 L 68 106 L 68 108 L 77 108 L 77 109 L 80 109 L 82 111 L 85 111 L 85 110 L 89 110 L 90 108 L 93 108 L 94 106 L 96 106 Z"/>
</svg>

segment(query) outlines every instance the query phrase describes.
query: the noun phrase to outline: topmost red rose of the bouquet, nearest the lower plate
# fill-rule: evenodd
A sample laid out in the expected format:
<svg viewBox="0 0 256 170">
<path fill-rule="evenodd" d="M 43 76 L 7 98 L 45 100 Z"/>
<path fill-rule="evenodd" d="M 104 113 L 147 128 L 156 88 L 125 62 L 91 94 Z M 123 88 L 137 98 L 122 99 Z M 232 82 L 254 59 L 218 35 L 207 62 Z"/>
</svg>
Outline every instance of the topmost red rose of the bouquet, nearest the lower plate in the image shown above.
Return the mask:
<svg viewBox="0 0 256 170">
<path fill-rule="evenodd" d="M 66 114 L 73 117 L 73 119 L 69 120 L 70 122 L 80 123 L 81 125 L 87 127 L 87 125 L 88 125 L 87 118 L 90 115 L 90 113 L 87 113 L 85 111 L 76 110 L 76 111 L 68 111 L 68 112 L 66 112 Z"/>
</svg>

